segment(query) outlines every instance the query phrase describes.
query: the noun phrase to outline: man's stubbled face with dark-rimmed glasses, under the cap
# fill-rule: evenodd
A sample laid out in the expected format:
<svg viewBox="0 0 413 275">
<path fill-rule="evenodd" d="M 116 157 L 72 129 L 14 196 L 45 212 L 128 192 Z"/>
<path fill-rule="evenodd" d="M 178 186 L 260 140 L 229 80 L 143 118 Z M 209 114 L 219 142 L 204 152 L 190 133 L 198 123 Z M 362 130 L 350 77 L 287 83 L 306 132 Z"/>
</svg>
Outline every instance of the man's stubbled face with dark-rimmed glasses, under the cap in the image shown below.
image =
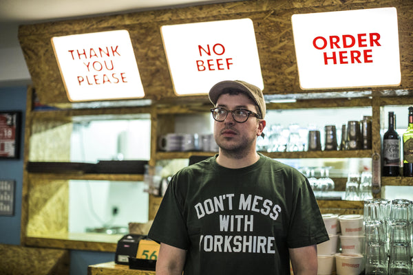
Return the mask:
<svg viewBox="0 0 413 275">
<path fill-rule="evenodd" d="M 227 110 L 246 109 L 257 113 L 253 100 L 245 94 L 222 94 L 218 98 L 216 107 Z M 236 122 L 231 113 L 228 113 L 223 122 L 215 121 L 214 137 L 218 146 L 224 151 L 244 151 L 255 149 L 257 136 L 261 135 L 265 122 L 258 122 L 254 115 L 250 115 L 248 120 L 243 123 Z"/>
</svg>

